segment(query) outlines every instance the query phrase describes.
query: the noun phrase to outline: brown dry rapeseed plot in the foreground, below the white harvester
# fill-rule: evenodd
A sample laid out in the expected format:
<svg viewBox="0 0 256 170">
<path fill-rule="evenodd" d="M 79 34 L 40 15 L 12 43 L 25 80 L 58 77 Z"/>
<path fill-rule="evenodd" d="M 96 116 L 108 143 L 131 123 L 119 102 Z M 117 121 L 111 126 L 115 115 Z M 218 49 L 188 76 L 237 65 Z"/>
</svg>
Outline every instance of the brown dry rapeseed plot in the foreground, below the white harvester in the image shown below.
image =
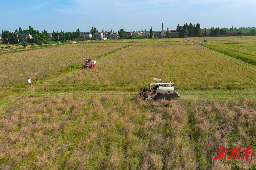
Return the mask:
<svg viewBox="0 0 256 170">
<path fill-rule="evenodd" d="M 255 148 L 255 99 L 26 97 L 1 115 L 2 169 L 218 169 Z M 236 158 L 237 159 L 237 158 Z M 240 159 L 239 164 L 252 164 Z"/>
</svg>

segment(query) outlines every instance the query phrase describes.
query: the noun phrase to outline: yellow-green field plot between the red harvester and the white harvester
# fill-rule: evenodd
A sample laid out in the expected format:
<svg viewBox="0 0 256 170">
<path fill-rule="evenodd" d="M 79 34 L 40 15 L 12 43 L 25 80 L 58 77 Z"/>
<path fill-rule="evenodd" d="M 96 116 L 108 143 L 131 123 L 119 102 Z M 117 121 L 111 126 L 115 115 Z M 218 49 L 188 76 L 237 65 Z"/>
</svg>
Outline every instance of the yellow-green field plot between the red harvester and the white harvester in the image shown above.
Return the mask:
<svg viewBox="0 0 256 170">
<path fill-rule="evenodd" d="M 254 89 L 256 67 L 198 45 L 134 46 L 97 60 L 93 70 L 52 78 L 48 85 L 84 85 L 87 89 L 138 91 L 153 78 L 174 81 L 180 90 Z M 241 74 L 243 73 L 243 74 Z"/>
</svg>

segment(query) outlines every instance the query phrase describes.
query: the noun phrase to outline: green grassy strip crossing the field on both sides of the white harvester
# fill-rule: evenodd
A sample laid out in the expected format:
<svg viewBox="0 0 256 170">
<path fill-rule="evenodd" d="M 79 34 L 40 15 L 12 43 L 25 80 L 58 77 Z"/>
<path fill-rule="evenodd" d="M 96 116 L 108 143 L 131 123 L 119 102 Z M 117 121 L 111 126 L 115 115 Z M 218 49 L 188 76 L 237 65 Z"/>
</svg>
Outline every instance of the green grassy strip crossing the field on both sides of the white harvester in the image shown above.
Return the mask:
<svg viewBox="0 0 256 170">
<path fill-rule="evenodd" d="M 4 97 L 5 100 L 8 100 L 9 97 L 13 95 L 17 95 L 18 98 L 20 96 L 24 97 L 44 97 L 44 96 L 52 96 L 52 95 L 60 95 L 60 96 L 73 96 L 73 97 L 83 97 L 83 96 L 139 96 L 138 91 L 124 92 L 124 91 L 93 91 L 93 90 L 81 90 L 81 89 L 67 89 L 66 91 L 62 90 L 53 90 L 47 91 L 46 89 L 33 88 L 25 91 L 26 88 L 16 89 L 15 92 L 9 92 L 8 96 Z M 19 92 L 17 92 L 19 91 Z M 179 90 L 177 91 L 180 94 L 180 99 L 193 98 L 196 97 L 198 99 L 219 99 L 219 98 L 239 98 L 241 96 L 256 96 L 256 90 Z M 176 99 L 175 99 L 176 100 Z M 179 99 L 178 99 L 179 100 Z"/>
</svg>

